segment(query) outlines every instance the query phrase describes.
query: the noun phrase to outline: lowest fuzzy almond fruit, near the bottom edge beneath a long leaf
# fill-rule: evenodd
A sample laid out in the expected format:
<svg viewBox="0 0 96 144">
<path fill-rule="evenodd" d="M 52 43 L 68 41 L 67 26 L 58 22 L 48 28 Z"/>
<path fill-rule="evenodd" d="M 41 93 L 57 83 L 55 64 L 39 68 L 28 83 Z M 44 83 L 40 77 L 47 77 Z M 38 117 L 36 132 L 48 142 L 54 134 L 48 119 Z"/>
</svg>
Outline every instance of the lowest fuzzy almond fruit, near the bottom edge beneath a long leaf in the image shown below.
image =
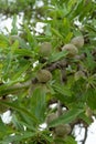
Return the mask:
<svg viewBox="0 0 96 144">
<path fill-rule="evenodd" d="M 65 137 L 70 133 L 71 133 L 70 124 L 61 124 L 55 127 L 54 137 Z"/>
</svg>

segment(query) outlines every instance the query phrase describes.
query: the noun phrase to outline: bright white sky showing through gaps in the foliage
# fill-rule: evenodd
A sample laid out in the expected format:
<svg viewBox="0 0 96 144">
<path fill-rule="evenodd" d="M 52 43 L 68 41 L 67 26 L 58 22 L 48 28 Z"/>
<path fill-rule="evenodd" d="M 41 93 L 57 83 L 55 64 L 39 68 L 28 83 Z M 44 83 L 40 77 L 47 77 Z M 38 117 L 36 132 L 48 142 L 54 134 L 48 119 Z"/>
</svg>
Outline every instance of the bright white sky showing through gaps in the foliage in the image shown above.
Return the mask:
<svg viewBox="0 0 96 144">
<path fill-rule="evenodd" d="M 1 18 L 2 17 L 0 16 L 0 32 L 2 31 L 4 33 L 8 33 L 7 29 L 10 32 L 12 20 L 9 18 L 9 19 L 2 21 Z M 18 18 L 18 28 L 20 28 L 19 23 L 21 22 L 21 20 L 22 20 L 22 18 L 21 19 Z M 43 28 L 43 24 L 41 22 L 38 22 L 35 25 L 35 30 L 39 32 L 43 32 L 42 28 Z M 3 119 L 3 122 L 9 123 L 11 120 L 10 111 L 4 113 L 2 119 Z M 76 135 L 77 135 L 76 141 L 81 141 L 83 138 L 83 132 L 82 132 L 82 134 L 79 134 L 78 128 L 76 128 Z M 81 144 L 81 143 L 78 143 L 78 144 Z M 96 144 L 96 121 L 94 121 L 94 123 L 88 128 L 88 135 L 87 135 L 87 140 L 86 140 L 85 144 Z"/>
</svg>

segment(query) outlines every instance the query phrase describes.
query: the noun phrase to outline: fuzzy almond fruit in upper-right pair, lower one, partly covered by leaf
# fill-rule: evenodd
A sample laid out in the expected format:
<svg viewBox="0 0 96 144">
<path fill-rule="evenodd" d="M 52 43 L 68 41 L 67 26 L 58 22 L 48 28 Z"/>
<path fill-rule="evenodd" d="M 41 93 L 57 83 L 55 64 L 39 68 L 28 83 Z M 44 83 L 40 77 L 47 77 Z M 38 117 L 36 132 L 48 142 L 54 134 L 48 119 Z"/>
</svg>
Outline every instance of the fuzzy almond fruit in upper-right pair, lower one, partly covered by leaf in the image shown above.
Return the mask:
<svg viewBox="0 0 96 144">
<path fill-rule="evenodd" d="M 75 56 L 78 53 L 77 48 L 72 43 L 65 44 L 62 51 L 67 51 L 70 56 Z"/>
</svg>

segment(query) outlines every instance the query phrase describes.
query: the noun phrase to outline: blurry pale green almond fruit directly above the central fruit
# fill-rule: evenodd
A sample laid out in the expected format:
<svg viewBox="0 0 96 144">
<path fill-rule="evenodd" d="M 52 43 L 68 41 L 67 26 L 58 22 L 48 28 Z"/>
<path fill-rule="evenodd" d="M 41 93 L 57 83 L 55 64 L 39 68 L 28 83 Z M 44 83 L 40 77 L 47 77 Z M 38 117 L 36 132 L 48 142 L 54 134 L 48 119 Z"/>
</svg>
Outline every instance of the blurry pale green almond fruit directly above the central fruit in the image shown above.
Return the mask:
<svg viewBox="0 0 96 144">
<path fill-rule="evenodd" d="M 42 56 L 49 56 L 52 52 L 52 44 L 50 42 L 43 42 L 40 47 L 40 54 Z"/>
</svg>

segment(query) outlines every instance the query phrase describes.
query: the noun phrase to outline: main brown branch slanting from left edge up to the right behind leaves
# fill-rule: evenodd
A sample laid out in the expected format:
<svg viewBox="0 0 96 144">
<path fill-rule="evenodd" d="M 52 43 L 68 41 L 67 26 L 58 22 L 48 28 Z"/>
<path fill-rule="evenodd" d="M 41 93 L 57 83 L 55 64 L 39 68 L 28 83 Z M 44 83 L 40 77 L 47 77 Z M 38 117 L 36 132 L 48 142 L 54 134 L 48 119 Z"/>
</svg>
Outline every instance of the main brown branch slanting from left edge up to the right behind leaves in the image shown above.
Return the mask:
<svg viewBox="0 0 96 144">
<path fill-rule="evenodd" d="M 96 49 L 92 52 L 92 55 L 95 56 L 96 55 Z M 77 55 L 77 59 L 78 61 L 83 61 L 87 55 L 85 53 L 81 54 L 81 55 Z M 67 65 L 70 64 L 70 60 L 68 59 L 63 59 L 63 60 L 60 60 L 60 61 L 56 61 L 56 62 L 53 62 L 51 64 L 47 64 L 45 65 L 44 69 L 49 70 L 50 72 L 56 70 L 56 69 L 61 69 L 63 71 L 63 74 L 64 73 L 64 70 L 67 68 Z M 62 79 L 63 81 L 65 81 L 65 75 L 62 75 Z M 17 91 L 21 90 L 21 89 L 25 89 L 25 88 L 29 88 L 31 84 L 35 84 L 38 83 L 38 80 L 36 78 L 28 81 L 28 82 L 24 82 L 24 83 L 18 83 L 18 84 L 14 84 L 14 85 L 7 85 L 7 84 L 0 84 L 0 95 L 6 95 L 6 94 L 12 94 L 12 93 L 15 93 Z"/>
</svg>

